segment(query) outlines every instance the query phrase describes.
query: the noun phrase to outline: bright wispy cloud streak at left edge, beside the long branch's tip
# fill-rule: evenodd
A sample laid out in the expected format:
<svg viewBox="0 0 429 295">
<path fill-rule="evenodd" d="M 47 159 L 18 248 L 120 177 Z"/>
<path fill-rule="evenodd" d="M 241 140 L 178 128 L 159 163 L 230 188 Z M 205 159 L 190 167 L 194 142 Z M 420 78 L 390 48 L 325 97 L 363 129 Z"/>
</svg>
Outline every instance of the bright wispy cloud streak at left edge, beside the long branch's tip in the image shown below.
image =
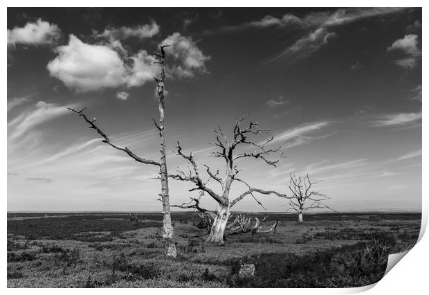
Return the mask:
<svg viewBox="0 0 429 295">
<path fill-rule="evenodd" d="M 43 101 L 37 102 L 31 111 L 24 111 L 8 123 L 8 140 L 13 141 L 37 125 L 69 114 L 67 107 L 75 107 L 75 105 L 62 106 Z"/>
</svg>

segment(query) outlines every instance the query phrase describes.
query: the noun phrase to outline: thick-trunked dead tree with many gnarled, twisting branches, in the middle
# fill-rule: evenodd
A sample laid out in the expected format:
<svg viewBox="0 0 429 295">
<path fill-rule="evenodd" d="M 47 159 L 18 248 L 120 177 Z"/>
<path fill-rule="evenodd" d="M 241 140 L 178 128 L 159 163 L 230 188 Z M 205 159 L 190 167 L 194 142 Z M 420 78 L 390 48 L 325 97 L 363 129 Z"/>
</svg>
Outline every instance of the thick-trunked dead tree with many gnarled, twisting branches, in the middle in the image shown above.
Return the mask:
<svg viewBox="0 0 429 295">
<path fill-rule="evenodd" d="M 253 122 L 250 122 L 248 127 L 241 128 L 241 123 L 243 123 L 243 121 L 246 120 L 247 118 L 248 118 L 248 115 L 243 116 L 242 118 L 236 121 L 234 130 L 233 130 L 233 137 L 231 141 L 229 141 L 227 136 L 223 134 L 220 127 L 215 129 L 216 141 L 213 144 L 219 150 L 217 152 L 212 152 L 212 154 L 214 154 L 215 157 L 219 157 L 225 161 L 226 163 L 225 177 L 223 178 L 219 177 L 219 170 L 217 170 L 217 172 L 212 172 L 212 170 L 210 170 L 208 166 L 206 165 L 204 166 L 206 167 L 206 172 L 210 177 L 208 181 L 213 180 L 219 184 L 221 188 L 220 194 L 215 193 L 214 190 L 212 190 L 207 186 L 208 181 L 204 182 L 203 179 L 201 179 L 201 175 L 199 173 L 199 167 L 195 162 L 192 152 L 190 154 L 184 154 L 180 143 L 179 142 L 177 143 L 177 154 L 183 157 L 183 159 L 187 160 L 190 166 L 192 167 L 188 172 L 183 172 L 179 170 L 178 171 L 179 174 L 169 175 L 169 177 L 179 181 L 192 182 L 195 185 L 195 187 L 192 188 L 190 191 L 199 190 L 201 192 L 200 197 L 205 193 L 207 193 L 208 195 L 210 195 L 210 197 L 212 197 L 212 199 L 215 199 L 218 205 L 216 211 L 209 211 L 199 206 L 199 199 L 192 199 L 190 203 L 186 203 L 180 206 L 181 208 L 195 208 L 201 213 L 210 215 L 212 217 L 213 223 L 210 229 L 210 234 L 206 241 L 209 243 L 223 244 L 223 235 L 225 233 L 228 218 L 230 217 L 230 210 L 232 206 L 237 204 L 237 202 L 241 201 L 241 199 L 244 199 L 244 197 L 250 195 L 255 199 L 257 204 L 259 204 L 260 206 L 262 206 L 262 204 L 257 200 L 254 193 L 259 193 L 263 195 L 275 194 L 278 197 L 284 197 L 289 199 L 289 197 L 286 197 L 286 195 L 277 193 L 273 190 L 262 190 L 259 188 L 252 188 L 245 181 L 237 177 L 237 175 L 241 170 L 237 168 L 237 165 L 235 164 L 235 162 L 239 159 L 246 159 L 246 158 L 262 159 L 262 161 L 264 161 L 268 165 L 275 167 L 276 164 L 282 158 L 282 153 L 280 153 L 278 159 L 276 160 L 268 159 L 268 156 L 271 156 L 272 154 L 277 153 L 280 150 L 280 147 L 277 147 L 275 149 L 266 147 L 269 143 L 271 143 L 271 141 L 273 141 L 274 136 L 271 136 L 271 138 L 269 138 L 264 143 L 255 143 L 255 141 L 252 141 L 248 138 L 248 136 L 250 135 L 269 132 L 269 130 L 259 129 L 257 127 L 257 123 L 253 123 Z M 244 145 L 256 147 L 255 152 L 237 153 L 237 147 L 241 147 Z M 235 181 L 245 184 L 248 189 L 241 195 L 235 197 L 234 199 L 230 199 L 230 188 Z M 194 204 L 192 204 L 192 202 L 194 202 Z M 262 207 L 264 208 L 264 206 Z"/>
</svg>

